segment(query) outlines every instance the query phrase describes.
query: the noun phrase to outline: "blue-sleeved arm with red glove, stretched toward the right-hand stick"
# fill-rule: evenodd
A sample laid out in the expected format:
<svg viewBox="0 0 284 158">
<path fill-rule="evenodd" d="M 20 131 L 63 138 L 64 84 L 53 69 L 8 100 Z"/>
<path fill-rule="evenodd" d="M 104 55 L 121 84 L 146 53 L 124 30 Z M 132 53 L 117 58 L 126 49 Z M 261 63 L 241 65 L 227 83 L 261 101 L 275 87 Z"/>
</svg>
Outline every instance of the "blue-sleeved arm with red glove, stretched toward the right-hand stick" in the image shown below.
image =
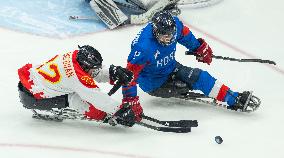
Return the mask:
<svg viewBox="0 0 284 158">
<path fill-rule="evenodd" d="M 184 25 L 177 17 L 175 17 L 177 23 L 177 41 L 185 46 L 189 52 L 192 52 L 196 56 L 196 60 L 199 62 L 207 63 L 212 62 L 212 49 L 207 42 L 202 39 L 196 39 L 189 28 Z"/>
</svg>

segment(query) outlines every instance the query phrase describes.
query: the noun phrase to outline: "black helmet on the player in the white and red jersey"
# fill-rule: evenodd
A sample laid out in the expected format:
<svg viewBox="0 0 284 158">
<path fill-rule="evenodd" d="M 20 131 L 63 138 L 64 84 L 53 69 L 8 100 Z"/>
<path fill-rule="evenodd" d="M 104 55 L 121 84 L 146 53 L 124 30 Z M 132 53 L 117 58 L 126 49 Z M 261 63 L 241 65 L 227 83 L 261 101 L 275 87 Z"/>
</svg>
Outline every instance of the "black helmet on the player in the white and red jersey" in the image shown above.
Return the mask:
<svg viewBox="0 0 284 158">
<path fill-rule="evenodd" d="M 95 48 L 88 45 L 78 47 L 77 61 L 85 72 L 88 72 L 90 69 L 101 68 L 103 59 Z"/>
</svg>

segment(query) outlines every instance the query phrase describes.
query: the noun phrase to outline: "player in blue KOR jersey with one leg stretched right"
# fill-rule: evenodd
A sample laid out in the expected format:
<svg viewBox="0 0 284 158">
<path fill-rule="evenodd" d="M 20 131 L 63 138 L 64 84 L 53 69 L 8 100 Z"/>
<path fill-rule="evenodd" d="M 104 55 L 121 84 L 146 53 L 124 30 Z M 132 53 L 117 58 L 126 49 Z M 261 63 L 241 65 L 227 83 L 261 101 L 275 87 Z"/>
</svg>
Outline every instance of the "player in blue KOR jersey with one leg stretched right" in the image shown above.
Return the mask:
<svg viewBox="0 0 284 158">
<path fill-rule="evenodd" d="M 212 62 L 212 50 L 204 39 L 196 39 L 190 29 L 168 11 L 155 14 L 132 41 L 127 69 L 134 80 L 123 86 L 124 97 L 137 96 L 140 88 L 152 96 L 182 98 L 182 86 L 200 90 L 206 97 L 227 103 L 227 108 L 249 112 L 256 110 L 255 96 L 250 91 L 233 91 L 207 71 L 182 65 L 175 60 L 177 43 L 185 46 L 199 62 Z"/>
</svg>

